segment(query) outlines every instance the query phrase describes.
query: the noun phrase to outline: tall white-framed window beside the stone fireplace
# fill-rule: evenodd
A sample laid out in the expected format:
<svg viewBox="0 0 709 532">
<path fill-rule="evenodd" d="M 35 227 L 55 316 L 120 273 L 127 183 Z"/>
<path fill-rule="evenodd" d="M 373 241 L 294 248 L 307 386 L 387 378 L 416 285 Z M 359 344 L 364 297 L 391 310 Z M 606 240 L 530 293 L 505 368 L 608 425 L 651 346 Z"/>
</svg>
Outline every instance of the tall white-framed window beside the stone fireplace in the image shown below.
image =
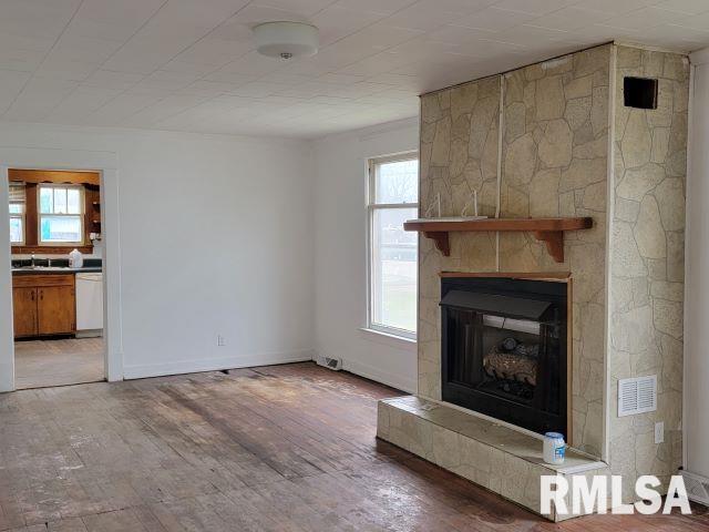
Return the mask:
<svg viewBox="0 0 709 532">
<path fill-rule="evenodd" d="M 417 155 L 370 160 L 368 327 L 407 338 L 417 334 L 418 234 L 403 223 L 418 207 Z"/>
</svg>

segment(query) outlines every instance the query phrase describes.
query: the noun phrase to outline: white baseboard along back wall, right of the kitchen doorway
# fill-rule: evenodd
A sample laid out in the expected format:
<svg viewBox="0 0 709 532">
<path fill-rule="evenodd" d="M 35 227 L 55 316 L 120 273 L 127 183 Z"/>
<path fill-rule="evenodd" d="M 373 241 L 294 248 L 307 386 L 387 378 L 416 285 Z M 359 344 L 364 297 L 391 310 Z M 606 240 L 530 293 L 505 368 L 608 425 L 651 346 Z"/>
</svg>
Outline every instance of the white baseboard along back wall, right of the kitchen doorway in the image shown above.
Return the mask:
<svg viewBox="0 0 709 532">
<path fill-rule="evenodd" d="M 312 349 L 300 349 L 284 352 L 263 352 L 237 355 L 233 357 L 178 360 L 166 364 L 124 366 L 123 378 L 125 380 L 145 379 L 148 377 L 165 377 L 168 375 L 219 371 L 222 369 L 273 366 L 276 364 L 305 362 L 312 360 L 314 356 L 315 351 Z"/>
</svg>

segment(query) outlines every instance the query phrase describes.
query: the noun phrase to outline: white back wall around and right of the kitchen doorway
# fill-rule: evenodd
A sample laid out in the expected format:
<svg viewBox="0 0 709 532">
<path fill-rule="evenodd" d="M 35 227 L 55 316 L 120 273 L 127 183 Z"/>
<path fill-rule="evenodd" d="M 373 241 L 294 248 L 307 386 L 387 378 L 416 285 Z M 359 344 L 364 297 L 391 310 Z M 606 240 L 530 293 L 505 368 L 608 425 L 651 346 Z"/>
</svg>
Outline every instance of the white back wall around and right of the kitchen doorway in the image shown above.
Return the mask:
<svg viewBox="0 0 709 532">
<path fill-rule="evenodd" d="M 311 358 L 310 144 L 3 123 L 8 146 L 116 154 L 127 378 Z"/>
</svg>

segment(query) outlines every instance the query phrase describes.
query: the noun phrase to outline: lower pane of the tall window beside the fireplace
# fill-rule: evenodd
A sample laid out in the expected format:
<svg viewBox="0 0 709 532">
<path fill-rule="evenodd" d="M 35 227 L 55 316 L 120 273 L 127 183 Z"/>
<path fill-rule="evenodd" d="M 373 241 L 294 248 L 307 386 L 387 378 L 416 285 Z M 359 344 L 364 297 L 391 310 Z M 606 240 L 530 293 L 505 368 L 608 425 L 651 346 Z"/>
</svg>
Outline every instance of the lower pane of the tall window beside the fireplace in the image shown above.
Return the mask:
<svg viewBox="0 0 709 532">
<path fill-rule="evenodd" d="M 417 330 L 417 233 L 403 231 L 415 208 L 377 208 L 372 219 L 372 323 Z"/>
</svg>

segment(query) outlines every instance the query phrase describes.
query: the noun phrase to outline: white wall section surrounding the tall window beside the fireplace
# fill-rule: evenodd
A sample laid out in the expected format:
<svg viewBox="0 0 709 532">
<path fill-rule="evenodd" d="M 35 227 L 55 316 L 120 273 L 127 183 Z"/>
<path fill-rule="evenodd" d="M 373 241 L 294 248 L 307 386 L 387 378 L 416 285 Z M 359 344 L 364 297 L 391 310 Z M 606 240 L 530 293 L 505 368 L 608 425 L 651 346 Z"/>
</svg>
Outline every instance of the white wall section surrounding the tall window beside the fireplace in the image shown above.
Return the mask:
<svg viewBox="0 0 709 532">
<path fill-rule="evenodd" d="M 417 388 L 415 344 L 360 330 L 367 306 L 367 158 L 418 147 L 418 119 L 315 145 L 317 351 L 407 391 Z"/>
</svg>

